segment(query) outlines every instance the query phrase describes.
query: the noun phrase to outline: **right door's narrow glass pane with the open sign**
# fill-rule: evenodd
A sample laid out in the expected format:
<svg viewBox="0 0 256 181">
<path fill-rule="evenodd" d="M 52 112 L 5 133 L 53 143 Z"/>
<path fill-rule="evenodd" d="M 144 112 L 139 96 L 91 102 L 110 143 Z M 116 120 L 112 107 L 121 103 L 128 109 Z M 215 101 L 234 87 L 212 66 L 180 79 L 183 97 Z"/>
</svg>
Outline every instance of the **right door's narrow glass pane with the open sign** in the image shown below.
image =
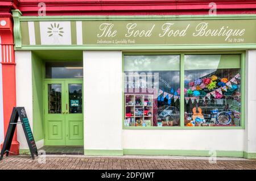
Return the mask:
<svg viewBox="0 0 256 181">
<path fill-rule="evenodd" d="M 68 85 L 69 113 L 82 113 L 82 84 Z"/>
</svg>

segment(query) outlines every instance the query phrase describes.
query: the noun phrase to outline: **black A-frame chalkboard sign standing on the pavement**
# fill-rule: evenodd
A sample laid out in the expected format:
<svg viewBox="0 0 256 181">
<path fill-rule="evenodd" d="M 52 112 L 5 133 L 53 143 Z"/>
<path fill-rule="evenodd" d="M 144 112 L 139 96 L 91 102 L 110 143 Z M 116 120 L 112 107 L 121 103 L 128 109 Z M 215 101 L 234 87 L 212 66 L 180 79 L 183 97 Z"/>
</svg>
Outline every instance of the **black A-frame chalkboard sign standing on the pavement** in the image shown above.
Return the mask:
<svg viewBox="0 0 256 181">
<path fill-rule="evenodd" d="M 20 121 L 18 121 L 20 119 Z M 3 159 L 3 155 L 6 153 L 6 157 L 9 155 L 9 150 L 11 148 L 11 142 L 13 141 L 13 136 L 17 124 L 22 124 L 24 134 L 27 139 L 28 147 L 30 148 L 30 153 L 32 159 L 35 159 L 34 154 L 38 156 L 38 149 L 36 148 L 34 136 L 32 134 L 30 123 L 27 119 L 27 113 L 24 107 L 14 107 L 11 113 L 11 118 L 9 126 L 6 132 L 5 141 L 3 142 L 3 148 L 1 151 L 0 160 Z"/>
</svg>

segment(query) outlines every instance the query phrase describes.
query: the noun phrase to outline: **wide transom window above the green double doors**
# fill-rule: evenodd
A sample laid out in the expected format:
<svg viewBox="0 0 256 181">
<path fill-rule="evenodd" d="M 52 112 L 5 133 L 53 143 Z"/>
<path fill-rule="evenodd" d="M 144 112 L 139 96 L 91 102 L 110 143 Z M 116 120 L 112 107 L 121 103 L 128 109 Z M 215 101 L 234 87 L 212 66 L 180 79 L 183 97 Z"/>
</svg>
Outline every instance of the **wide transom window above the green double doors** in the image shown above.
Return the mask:
<svg viewBox="0 0 256 181">
<path fill-rule="evenodd" d="M 82 77 L 82 62 L 46 62 L 46 78 Z"/>
</svg>

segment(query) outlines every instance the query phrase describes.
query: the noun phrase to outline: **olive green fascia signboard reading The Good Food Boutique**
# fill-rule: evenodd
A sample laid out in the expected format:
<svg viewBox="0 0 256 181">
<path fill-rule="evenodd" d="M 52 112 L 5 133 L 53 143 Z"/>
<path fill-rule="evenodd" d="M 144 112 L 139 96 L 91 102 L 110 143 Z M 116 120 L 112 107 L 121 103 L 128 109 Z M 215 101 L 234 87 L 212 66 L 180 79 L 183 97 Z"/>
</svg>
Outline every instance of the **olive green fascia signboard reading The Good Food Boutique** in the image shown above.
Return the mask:
<svg viewBox="0 0 256 181">
<path fill-rule="evenodd" d="M 23 45 L 255 44 L 256 20 L 21 22 Z M 34 30 L 33 30 L 34 29 Z M 38 31 L 36 31 L 38 30 Z"/>
</svg>

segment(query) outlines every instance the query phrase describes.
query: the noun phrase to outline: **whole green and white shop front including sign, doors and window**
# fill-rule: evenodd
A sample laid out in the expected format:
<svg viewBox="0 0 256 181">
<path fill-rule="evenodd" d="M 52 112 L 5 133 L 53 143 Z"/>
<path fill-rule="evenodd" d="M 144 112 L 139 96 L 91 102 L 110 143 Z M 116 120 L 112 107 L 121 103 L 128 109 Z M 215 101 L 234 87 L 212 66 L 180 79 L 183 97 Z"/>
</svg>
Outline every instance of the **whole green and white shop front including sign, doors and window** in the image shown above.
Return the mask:
<svg viewBox="0 0 256 181">
<path fill-rule="evenodd" d="M 256 16 L 13 16 L 39 148 L 256 158 Z"/>
</svg>

